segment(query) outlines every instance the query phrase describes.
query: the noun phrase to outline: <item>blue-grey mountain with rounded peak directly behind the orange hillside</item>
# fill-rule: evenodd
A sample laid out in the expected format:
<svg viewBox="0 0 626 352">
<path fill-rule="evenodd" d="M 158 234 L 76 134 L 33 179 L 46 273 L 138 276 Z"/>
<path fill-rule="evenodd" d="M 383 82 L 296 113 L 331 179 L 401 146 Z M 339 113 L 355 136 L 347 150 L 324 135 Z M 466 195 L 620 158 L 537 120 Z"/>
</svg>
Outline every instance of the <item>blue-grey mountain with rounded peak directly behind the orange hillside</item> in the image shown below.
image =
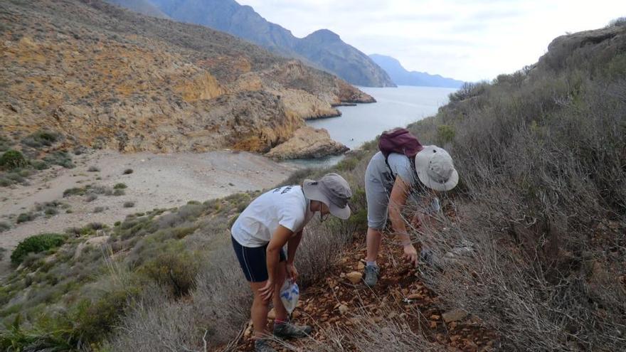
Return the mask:
<svg viewBox="0 0 626 352">
<path fill-rule="evenodd" d="M 122 6 L 137 0 L 115 0 Z M 367 55 L 322 29 L 305 38 L 262 18 L 234 0 L 144 0 L 176 21 L 196 23 L 252 41 L 273 53 L 297 58 L 353 85 L 395 87 L 389 75 Z"/>
</svg>

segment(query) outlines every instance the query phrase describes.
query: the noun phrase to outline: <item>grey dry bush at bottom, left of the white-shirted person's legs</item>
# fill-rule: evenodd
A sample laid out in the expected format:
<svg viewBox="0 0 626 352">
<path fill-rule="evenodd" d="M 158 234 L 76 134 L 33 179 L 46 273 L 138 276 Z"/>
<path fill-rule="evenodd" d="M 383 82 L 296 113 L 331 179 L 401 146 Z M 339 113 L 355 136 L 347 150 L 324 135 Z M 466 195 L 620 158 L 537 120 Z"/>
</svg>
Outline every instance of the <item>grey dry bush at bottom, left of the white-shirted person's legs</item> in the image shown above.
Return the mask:
<svg viewBox="0 0 626 352">
<path fill-rule="evenodd" d="M 222 253 L 222 254 L 221 254 Z M 235 260 L 226 251 L 203 258 L 196 289 L 184 300 L 167 299 L 161 287 L 143 299 L 108 343 L 111 351 L 197 351 L 235 338 L 248 321 L 252 294 Z"/>
</svg>

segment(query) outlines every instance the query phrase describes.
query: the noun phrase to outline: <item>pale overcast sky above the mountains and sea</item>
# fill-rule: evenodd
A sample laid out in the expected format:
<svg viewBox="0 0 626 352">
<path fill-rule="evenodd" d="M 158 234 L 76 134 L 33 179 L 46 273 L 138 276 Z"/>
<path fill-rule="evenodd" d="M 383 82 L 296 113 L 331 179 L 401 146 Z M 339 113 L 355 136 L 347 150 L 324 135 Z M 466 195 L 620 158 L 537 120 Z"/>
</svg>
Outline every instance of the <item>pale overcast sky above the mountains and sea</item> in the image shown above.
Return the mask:
<svg viewBox="0 0 626 352">
<path fill-rule="evenodd" d="M 320 28 L 408 70 L 491 80 L 535 63 L 553 38 L 626 16 L 626 0 L 236 0 L 302 38 Z"/>
</svg>

